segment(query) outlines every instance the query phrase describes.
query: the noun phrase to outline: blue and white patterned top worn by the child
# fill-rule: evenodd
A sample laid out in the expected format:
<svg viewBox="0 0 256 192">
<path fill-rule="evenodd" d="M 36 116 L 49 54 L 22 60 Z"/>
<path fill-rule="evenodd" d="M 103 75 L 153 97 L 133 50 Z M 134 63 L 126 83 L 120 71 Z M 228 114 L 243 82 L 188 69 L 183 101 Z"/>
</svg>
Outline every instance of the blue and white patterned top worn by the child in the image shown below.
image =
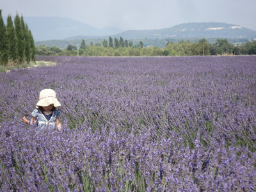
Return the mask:
<svg viewBox="0 0 256 192">
<path fill-rule="evenodd" d="M 42 129 L 45 127 L 55 128 L 56 118 L 60 115 L 60 111 L 58 109 L 52 111 L 52 116 L 50 120 L 47 120 L 44 114 L 39 109 L 34 109 L 31 115 L 36 118 L 36 129 Z"/>
</svg>

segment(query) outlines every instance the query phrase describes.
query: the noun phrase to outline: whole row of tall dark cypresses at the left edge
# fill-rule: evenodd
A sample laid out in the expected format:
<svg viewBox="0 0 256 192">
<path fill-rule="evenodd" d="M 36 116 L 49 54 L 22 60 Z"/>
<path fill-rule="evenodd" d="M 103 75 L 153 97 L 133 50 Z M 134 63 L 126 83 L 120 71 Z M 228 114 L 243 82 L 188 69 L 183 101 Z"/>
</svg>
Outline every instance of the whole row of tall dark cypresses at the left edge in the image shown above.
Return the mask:
<svg viewBox="0 0 256 192">
<path fill-rule="evenodd" d="M 5 25 L 0 10 L 0 65 L 17 63 L 20 66 L 35 61 L 35 53 L 34 38 L 23 16 L 17 13 L 13 24 L 12 16 L 8 15 Z"/>
</svg>

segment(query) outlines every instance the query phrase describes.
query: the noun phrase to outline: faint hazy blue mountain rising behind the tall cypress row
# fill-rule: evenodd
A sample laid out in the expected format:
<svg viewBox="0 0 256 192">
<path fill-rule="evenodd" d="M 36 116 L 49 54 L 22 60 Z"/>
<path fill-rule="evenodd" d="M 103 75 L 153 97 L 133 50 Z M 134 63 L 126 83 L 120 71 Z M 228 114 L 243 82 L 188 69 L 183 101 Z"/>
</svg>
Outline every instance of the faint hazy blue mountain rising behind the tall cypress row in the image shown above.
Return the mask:
<svg viewBox="0 0 256 192">
<path fill-rule="evenodd" d="M 4 18 L 6 21 L 6 17 Z M 13 17 L 14 20 L 14 17 Z M 116 27 L 95 28 L 74 19 L 60 17 L 24 17 L 35 41 L 61 40 L 70 36 L 105 36 L 122 32 Z"/>
</svg>

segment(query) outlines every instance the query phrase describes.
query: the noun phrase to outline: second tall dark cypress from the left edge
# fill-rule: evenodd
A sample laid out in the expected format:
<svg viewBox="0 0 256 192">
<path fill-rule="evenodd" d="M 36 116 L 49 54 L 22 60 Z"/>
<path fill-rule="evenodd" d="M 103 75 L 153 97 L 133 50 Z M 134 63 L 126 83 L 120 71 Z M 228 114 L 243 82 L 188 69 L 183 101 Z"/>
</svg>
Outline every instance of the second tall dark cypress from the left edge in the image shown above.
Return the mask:
<svg viewBox="0 0 256 192">
<path fill-rule="evenodd" d="M 12 22 L 12 16 L 8 15 L 6 25 L 6 35 L 8 40 L 8 58 L 9 60 L 17 60 L 17 38 L 15 35 L 15 29 Z"/>
</svg>

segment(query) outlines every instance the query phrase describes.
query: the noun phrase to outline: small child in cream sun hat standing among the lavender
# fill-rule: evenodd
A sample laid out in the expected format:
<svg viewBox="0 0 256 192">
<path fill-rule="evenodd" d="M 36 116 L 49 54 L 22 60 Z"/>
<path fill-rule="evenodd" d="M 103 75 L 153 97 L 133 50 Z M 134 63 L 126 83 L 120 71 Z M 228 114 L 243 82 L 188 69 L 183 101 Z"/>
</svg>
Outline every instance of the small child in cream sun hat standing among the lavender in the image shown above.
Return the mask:
<svg viewBox="0 0 256 192">
<path fill-rule="evenodd" d="M 56 99 L 56 93 L 52 89 L 44 89 L 40 92 L 39 100 L 36 104 L 36 109 L 32 111 L 32 118 L 26 119 L 23 116 L 22 122 L 32 125 L 36 122 L 36 129 L 44 127 L 55 128 L 61 130 L 61 123 L 59 119 L 60 111 L 56 108 L 60 107 L 60 102 Z"/>
</svg>

